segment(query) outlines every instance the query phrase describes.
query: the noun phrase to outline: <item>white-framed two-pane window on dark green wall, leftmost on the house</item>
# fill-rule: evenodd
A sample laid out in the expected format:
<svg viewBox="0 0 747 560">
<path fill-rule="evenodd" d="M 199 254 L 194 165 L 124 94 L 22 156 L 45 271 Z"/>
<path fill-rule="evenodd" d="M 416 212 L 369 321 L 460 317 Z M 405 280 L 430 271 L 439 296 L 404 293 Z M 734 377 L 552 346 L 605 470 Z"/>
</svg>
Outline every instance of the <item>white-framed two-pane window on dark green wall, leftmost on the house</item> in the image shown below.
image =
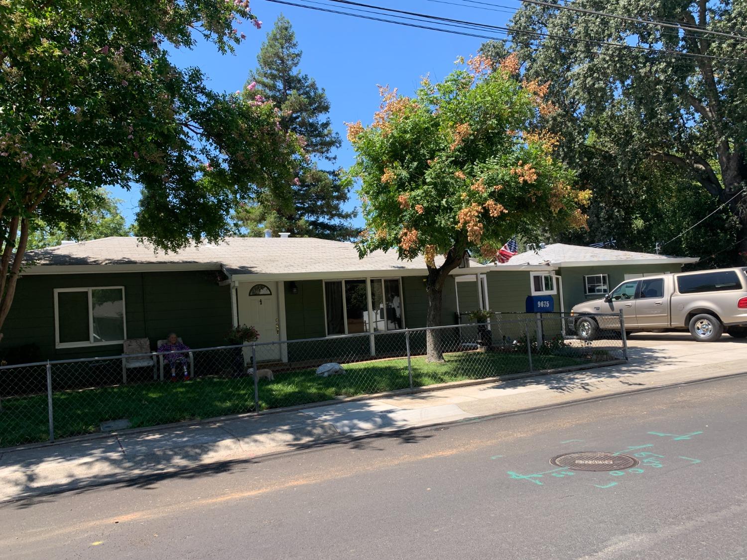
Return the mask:
<svg viewBox="0 0 747 560">
<path fill-rule="evenodd" d="M 120 344 L 126 337 L 124 287 L 55 290 L 56 347 Z"/>
</svg>

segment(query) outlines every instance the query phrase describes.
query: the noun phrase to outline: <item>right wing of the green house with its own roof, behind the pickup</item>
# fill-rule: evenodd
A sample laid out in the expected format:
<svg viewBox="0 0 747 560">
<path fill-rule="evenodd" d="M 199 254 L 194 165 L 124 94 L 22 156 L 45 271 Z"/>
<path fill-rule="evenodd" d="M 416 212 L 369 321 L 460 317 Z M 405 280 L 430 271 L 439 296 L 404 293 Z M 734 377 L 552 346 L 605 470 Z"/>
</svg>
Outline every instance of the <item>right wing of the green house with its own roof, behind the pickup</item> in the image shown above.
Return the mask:
<svg viewBox="0 0 747 560">
<path fill-rule="evenodd" d="M 545 273 L 533 270 L 532 295 L 552 294 L 555 311 L 567 312 L 578 303 L 598 299 L 630 278 L 679 273 L 685 264 L 698 258 L 670 257 L 617 249 L 601 249 L 553 243 L 514 255 L 497 269 L 511 266 L 544 266 Z"/>
</svg>

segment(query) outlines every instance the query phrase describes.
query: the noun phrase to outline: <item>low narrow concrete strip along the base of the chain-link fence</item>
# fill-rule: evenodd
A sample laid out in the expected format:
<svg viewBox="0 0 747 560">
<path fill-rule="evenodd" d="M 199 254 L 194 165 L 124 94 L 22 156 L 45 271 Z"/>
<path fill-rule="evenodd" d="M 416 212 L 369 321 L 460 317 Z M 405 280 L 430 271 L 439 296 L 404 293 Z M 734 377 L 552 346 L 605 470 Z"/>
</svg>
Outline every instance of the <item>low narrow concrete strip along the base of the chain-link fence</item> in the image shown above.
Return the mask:
<svg viewBox="0 0 747 560">
<path fill-rule="evenodd" d="M 241 418 L 257 418 L 257 417 L 262 417 L 262 416 L 269 416 L 270 414 L 297 412 L 301 410 L 306 410 L 307 408 L 320 408 L 323 406 L 338 405 L 344 402 L 360 402 L 363 400 L 371 400 L 371 399 L 385 399 L 391 396 L 412 395 L 412 394 L 417 394 L 417 393 L 430 393 L 432 391 L 443 391 L 444 389 L 456 389 L 460 387 L 471 387 L 473 385 L 487 385 L 489 383 L 513 381 L 515 379 L 526 379 L 529 377 L 548 376 L 548 375 L 553 375 L 555 373 L 568 373 L 571 371 L 595 370 L 600 367 L 610 367 L 610 366 L 616 366 L 620 364 L 627 364 L 627 360 L 624 360 L 624 359 L 608 360 L 608 361 L 598 362 L 597 364 L 591 364 L 591 365 L 583 364 L 583 365 L 578 365 L 578 366 L 560 367 L 554 370 L 536 370 L 531 373 L 530 372 L 511 373 L 507 376 L 486 377 L 484 379 L 466 379 L 465 381 L 438 383 L 436 385 L 427 385 L 425 387 L 415 387 L 412 389 L 405 388 L 405 389 L 397 389 L 395 391 L 385 391 L 383 393 L 367 393 L 365 395 L 347 396 L 344 399 L 331 399 L 331 400 L 325 400 L 325 401 L 320 401 L 320 402 L 309 402 L 305 405 L 285 406 L 282 408 L 270 408 L 269 410 L 259 411 L 259 412 L 244 412 L 241 414 L 227 414 L 226 416 L 217 416 L 217 417 L 212 417 L 212 418 L 205 418 L 202 420 L 183 420 L 182 422 L 173 422 L 170 424 L 159 424 L 158 426 L 143 426 L 141 428 L 131 428 L 131 429 L 119 430 L 116 432 L 106 432 L 106 433 L 96 432 L 94 434 L 78 435 L 72 438 L 63 438 L 63 439 L 55 440 L 55 441 L 44 441 L 44 442 L 40 442 L 37 444 L 23 444 L 23 445 L 19 445 L 15 447 L 0 447 L 0 455 L 3 455 L 4 453 L 25 451 L 28 449 L 41 449 L 43 447 L 55 447 L 58 445 L 75 444 L 75 443 L 81 443 L 81 442 L 86 442 L 86 441 L 96 441 L 96 440 L 102 440 L 106 438 L 117 438 L 120 435 L 142 434 L 146 432 L 155 432 L 157 430 L 160 431 L 160 430 L 175 429 L 175 428 L 185 428 L 187 426 L 195 426 L 195 427 L 210 426 L 211 424 L 226 422 L 228 420 L 241 420 Z"/>
</svg>

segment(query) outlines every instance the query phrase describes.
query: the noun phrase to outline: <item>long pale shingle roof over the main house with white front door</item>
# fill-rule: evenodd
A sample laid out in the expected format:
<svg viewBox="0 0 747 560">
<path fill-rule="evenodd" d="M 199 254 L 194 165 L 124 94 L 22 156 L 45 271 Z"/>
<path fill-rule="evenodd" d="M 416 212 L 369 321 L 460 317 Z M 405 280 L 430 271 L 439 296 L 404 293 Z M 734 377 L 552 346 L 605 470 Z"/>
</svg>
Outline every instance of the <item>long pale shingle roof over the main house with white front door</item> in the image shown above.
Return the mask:
<svg viewBox="0 0 747 560">
<path fill-rule="evenodd" d="M 189 246 L 178 253 L 155 252 L 135 237 L 105 237 L 29 251 L 31 266 L 110 264 L 215 264 L 229 274 L 316 273 L 426 268 L 422 257 L 400 261 L 396 251 L 361 259 L 353 243 L 313 237 L 229 237 L 223 243 Z"/>
</svg>

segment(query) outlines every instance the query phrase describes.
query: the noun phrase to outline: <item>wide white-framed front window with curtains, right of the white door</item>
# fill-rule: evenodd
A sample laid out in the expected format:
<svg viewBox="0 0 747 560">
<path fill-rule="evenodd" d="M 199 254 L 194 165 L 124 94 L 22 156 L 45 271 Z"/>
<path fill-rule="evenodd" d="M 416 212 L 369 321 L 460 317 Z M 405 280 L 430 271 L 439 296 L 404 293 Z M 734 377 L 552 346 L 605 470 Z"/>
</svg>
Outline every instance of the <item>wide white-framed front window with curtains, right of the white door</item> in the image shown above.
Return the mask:
<svg viewBox="0 0 747 560">
<path fill-rule="evenodd" d="M 328 336 L 404 328 L 400 279 L 371 279 L 370 282 L 369 298 L 365 280 L 324 281 L 324 320 Z"/>
</svg>

